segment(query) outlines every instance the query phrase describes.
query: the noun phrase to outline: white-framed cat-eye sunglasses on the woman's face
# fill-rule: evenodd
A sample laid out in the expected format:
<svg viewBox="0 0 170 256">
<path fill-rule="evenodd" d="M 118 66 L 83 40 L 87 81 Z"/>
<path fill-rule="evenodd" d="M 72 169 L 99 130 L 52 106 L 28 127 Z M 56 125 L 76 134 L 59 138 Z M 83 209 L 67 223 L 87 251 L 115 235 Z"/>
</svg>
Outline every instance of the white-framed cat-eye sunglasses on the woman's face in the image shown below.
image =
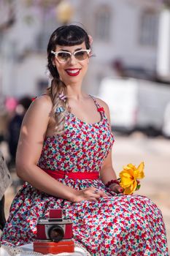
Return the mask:
<svg viewBox="0 0 170 256">
<path fill-rule="evenodd" d="M 86 50 L 77 50 L 74 53 L 70 53 L 67 51 L 59 50 L 59 51 L 53 51 L 51 50 L 51 53 L 55 55 L 55 58 L 58 59 L 59 62 L 67 62 L 71 59 L 71 56 L 74 55 L 74 58 L 77 59 L 77 61 L 84 61 L 89 57 L 90 49 Z"/>
</svg>

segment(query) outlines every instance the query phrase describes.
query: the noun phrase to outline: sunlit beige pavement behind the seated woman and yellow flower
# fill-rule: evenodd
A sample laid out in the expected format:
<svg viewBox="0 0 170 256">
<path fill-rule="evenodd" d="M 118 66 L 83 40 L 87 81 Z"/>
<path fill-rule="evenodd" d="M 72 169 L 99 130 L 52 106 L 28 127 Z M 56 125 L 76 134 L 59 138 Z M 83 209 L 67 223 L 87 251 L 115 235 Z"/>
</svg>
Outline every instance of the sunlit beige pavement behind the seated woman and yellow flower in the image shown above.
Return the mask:
<svg viewBox="0 0 170 256">
<path fill-rule="evenodd" d="M 128 137 L 115 134 L 112 156 L 117 176 L 123 165 L 139 165 L 144 161 L 145 177 L 141 180 L 142 186 L 136 193 L 149 197 L 161 208 L 170 248 L 170 140 L 162 137 L 147 138 L 141 133 L 134 133 Z M 12 177 L 16 181 L 15 173 L 12 173 Z M 15 190 L 9 187 L 5 193 L 6 216 L 9 214 L 9 206 L 14 195 Z"/>
</svg>

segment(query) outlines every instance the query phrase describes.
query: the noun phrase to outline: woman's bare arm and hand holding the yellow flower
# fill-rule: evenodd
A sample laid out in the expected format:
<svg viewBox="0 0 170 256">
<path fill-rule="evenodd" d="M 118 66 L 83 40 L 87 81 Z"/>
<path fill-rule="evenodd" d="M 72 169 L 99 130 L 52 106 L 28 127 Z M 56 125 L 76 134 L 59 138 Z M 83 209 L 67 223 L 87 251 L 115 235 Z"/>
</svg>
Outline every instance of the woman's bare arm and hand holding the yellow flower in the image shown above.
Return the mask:
<svg viewBox="0 0 170 256">
<path fill-rule="evenodd" d="M 104 108 L 104 111 L 107 115 L 109 124 L 110 124 L 110 116 L 109 116 L 109 107 L 108 105 L 102 101 L 101 99 L 97 99 L 98 103 Z M 101 167 L 101 171 L 100 171 L 100 178 L 101 181 L 104 184 L 107 184 L 109 181 L 115 180 L 117 179 L 116 177 L 116 173 L 114 168 L 112 167 L 112 150 L 109 151 L 109 154 L 107 155 L 107 158 L 104 159 L 104 163 Z M 123 192 L 123 189 L 117 185 L 117 184 L 111 184 L 109 186 L 110 189 L 112 189 L 115 192 Z"/>
</svg>

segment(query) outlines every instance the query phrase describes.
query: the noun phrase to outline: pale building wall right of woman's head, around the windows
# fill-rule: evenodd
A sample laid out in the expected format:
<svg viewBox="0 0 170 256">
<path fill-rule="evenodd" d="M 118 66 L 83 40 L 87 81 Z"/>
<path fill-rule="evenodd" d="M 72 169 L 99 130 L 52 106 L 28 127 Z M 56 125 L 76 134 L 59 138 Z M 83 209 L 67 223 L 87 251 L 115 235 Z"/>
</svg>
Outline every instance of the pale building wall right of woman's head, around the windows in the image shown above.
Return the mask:
<svg viewBox="0 0 170 256">
<path fill-rule="evenodd" d="M 126 66 L 144 67 L 155 69 L 157 46 L 147 47 L 139 44 L 139 18 L 143 10 L 152 7 L 158 10 L 156 1 L 131 0 L 93 0 L 90 5 L 85 4 L 82 12 L 82 20 L 85 22 L 90 34 L 95 35 L 95 13 L 99 5 L 107 4 L 111 18 L 111 37 L 108 42 L 98 41 L 95 36 L 93 40 L 93 51 L 96 58 L 91 61 L 89 80 L 93 82 L 93 93 L 98 91 L 98 77 L 115 75 L 112 62 L 121 59 Z M 81 4 L 80 4 L 81 6 Z"/>
</svg>

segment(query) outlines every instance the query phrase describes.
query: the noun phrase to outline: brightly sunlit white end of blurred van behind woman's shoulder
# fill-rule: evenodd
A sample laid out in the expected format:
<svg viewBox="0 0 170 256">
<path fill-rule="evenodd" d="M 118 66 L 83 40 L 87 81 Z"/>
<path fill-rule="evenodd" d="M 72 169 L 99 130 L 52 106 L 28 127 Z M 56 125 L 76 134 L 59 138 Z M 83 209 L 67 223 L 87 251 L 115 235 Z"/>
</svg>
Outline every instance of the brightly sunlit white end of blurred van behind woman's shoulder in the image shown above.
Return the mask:
<svg viewBox="0 0 170 256">
<path fill-rule="evenodd" d="M 132 132 L 136 127 L 138 84 L 132 78 L 104 78 L 98 97 L 109 105 L 111 125 L 121 132 Z"/>
</svg>

